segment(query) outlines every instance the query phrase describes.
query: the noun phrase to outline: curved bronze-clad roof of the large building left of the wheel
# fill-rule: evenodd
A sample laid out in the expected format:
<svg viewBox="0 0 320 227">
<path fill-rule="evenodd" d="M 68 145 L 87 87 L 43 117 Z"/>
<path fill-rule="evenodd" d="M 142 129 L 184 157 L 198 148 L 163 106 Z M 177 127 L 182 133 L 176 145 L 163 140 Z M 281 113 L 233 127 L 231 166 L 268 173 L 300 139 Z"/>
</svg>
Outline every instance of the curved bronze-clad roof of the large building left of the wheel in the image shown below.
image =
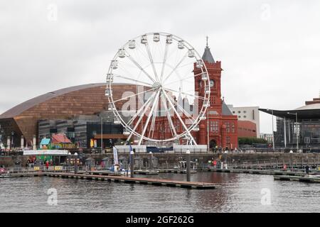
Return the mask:
<svg viewBox="0 0 320 227">
<path fill-rule="evenodd" d="M 132 84 L 115 84 L 113 94 L 122 96 L 123 91 L 132 91 Z M 119 101 L 119 106 L 122 102 Z M 21 135 L 25 143 L 30 143 L 37 135 L 40 119 L 70 119 L 80 115 L 92 115 L 107 110 L 108 99 L 105 96 L 105 83 L 84 84 L 48 92 L 0 115 L 0 126 L 4 131 L 2 140 L 14 133 L 14 144 L 20 144 Z"/>
</svg>

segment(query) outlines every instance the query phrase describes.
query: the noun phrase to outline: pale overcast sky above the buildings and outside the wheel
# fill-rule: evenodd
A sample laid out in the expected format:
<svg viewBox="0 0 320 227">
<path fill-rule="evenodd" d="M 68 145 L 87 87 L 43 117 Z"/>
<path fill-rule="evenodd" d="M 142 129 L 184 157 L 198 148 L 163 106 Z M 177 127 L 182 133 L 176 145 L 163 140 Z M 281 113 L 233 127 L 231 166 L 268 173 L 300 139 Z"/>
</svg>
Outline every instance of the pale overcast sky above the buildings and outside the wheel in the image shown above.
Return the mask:
<svg viewBox="0 0 320 227">
<path fill-rule="evenodd" d="M 295 109 L 319 96 L 320 1 L 0 0 L 0 113 L 104 82 L 130 38 L 173 33 L 202 55 L 209 36 L 227 104 Z M 260 113 L 260 131 L 271 116 Z"/>
</svg>

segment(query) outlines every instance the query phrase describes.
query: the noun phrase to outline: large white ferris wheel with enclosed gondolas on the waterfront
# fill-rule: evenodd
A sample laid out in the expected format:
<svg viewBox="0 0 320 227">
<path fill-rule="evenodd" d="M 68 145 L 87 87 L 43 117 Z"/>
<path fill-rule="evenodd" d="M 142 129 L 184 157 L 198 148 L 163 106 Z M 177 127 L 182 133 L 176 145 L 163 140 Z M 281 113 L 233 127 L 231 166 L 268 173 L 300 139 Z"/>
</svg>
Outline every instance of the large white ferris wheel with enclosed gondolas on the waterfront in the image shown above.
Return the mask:
<svg viewBox="0 0 320 227">
<path fill-rule="evenodd" d="M 119 84 L 131 87 L 119 96 Z M 117 51 L 105 95 L 127 141 L 136 138 L 141 145 L 182 139 L 196 144 L 193 133 L 210 105 L 208 71 L 185 40 L 169 33 L 146 33 Z M 123 108 L 124 101 L 129 109 Z"/>
</svg>

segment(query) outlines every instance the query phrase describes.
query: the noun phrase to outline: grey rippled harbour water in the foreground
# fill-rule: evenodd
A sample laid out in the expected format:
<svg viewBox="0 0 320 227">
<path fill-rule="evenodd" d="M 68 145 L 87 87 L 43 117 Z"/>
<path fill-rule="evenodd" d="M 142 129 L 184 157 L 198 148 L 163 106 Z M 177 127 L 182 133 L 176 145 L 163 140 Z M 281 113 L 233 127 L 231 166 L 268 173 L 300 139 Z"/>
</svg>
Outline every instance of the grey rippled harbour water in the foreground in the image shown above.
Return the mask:
<svg viewBox="0 0 320 227">
<path fill-rule="evenodd" d="M 185 179 L 161 174 L 153 178 Z M 274 181 L 270 175 L 198 172 L 192 181 L 214 182 L 221 189 L 182 189 L 86 179 L 23 177 L 0 179 L 1 212 L 318 212 L 320 185 Z M 58 205 L 48 205 L 48 189 Z M 271 204 L 262 205 L 262 189 Z"/>
</svg>

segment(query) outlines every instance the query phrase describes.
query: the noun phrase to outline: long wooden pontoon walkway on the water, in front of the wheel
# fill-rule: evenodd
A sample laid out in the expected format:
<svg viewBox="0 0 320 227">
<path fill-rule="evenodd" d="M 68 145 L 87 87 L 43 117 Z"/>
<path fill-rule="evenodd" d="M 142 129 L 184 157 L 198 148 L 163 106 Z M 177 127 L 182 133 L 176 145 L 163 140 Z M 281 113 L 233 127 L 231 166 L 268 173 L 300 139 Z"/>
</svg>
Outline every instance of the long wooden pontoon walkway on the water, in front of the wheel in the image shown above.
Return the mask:
<svg viewBox="0 0 320 227">
<path fill-rule="evenodd" d="M 119 177 L 119 176 L 106 176 L 106 175 L 83 175 L 63 172 L 44 172 L 44 176 L 48 177 L 63 177 L 63 178 L 75 178 L 75 179 L 92 179 L 92 180 L 107 180 L 109 182 L 124 182 L 129 184 L 151 184 L 156 186 L 167 186 L 167 187 L 183 187 L 189 189 L 217 189 L 220 185 L 211 184 L 206 182 L 184 182 L 176 181 L 171 179 L 151 179 L 142 177 Z"/>
</svg>

